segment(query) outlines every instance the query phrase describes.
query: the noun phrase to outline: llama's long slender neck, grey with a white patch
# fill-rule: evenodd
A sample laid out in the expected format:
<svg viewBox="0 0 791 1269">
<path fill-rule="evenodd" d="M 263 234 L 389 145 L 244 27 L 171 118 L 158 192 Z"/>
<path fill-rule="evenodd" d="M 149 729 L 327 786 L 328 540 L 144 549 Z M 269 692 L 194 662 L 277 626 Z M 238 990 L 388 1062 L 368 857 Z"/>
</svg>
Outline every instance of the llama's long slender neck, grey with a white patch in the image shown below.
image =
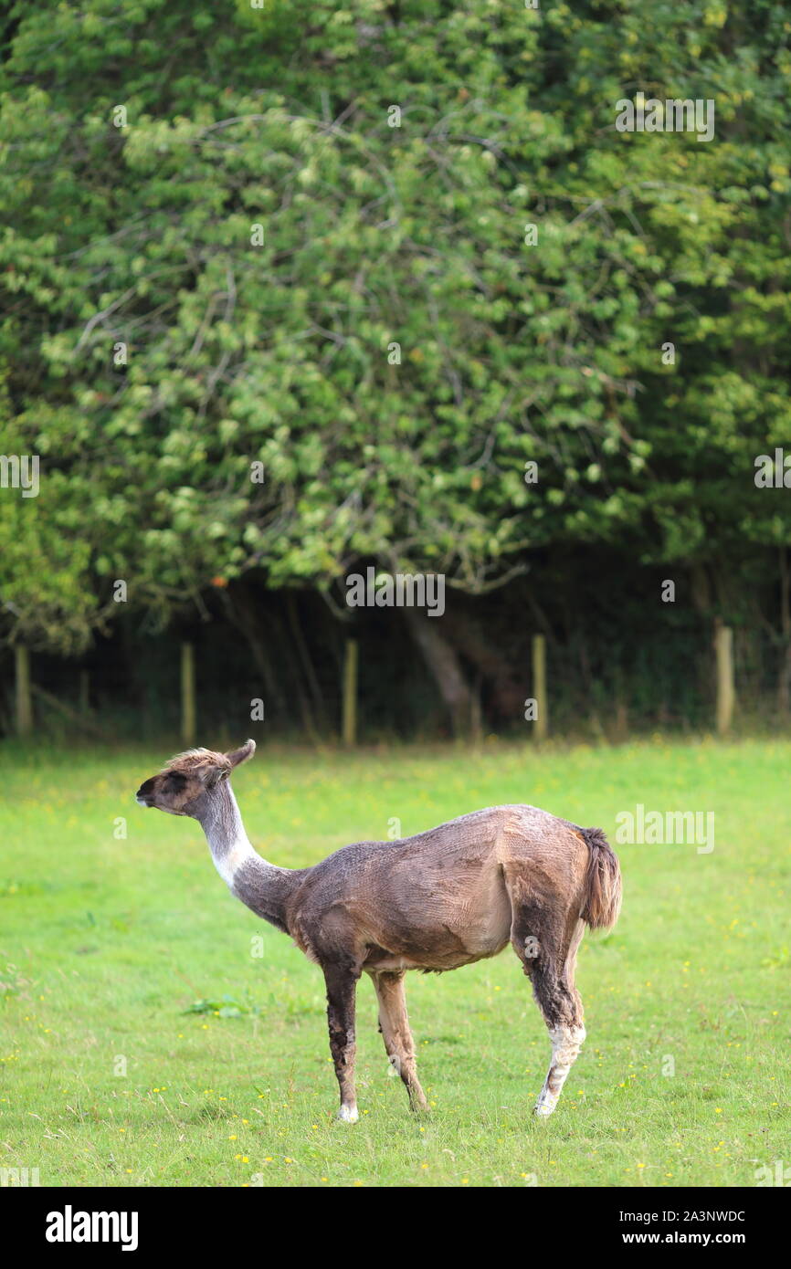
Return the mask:
<svg viewBox="0 0 791 1269">
<path fill-rule="evenodd" d="M 277 868 L 253 849 L 230 784 L 223 780 L 198 816 L 217 872 L 258 916 L 288 933 L 286 905 L 305 868 Z"/>
</svg>

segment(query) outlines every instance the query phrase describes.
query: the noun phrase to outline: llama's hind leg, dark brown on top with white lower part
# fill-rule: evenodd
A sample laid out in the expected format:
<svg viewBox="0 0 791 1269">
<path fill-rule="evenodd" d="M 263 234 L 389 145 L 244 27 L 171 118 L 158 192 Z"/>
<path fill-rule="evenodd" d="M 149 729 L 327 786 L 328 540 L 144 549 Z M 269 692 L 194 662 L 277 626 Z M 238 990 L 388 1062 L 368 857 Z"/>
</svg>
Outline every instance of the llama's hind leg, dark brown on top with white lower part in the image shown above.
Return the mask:
<svg viewBox="0 0 791 1269">
<path fill-rule="evenodd" d="M 545 914 L 522 909 L 512 928 L 512 943 L 528 975 L 536 1003 L 552 1042 L 550 1068 L 538 1094 L 535 1113 L 546 1117 L 557 1099 L 569 1071 L 579 1056 L 585 1027 L 583 1003 L 574 986 L 576 950 L 584 925 L 574 921 L 571 930 L 552 928 Z"/>
</svg>

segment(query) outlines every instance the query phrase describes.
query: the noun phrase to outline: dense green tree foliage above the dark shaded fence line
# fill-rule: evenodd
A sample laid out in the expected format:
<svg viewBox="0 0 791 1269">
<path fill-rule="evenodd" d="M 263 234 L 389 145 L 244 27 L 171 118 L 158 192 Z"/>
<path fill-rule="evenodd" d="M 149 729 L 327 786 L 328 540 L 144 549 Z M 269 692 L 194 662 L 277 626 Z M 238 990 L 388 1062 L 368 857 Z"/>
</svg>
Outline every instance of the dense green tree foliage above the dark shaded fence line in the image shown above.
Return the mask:
<svg viewBox="0 0 791 1269">
<path fill-rule="evenodd" d="M 475 593 L 560 543 L 726 576 L 787 541 L 790 36 L 774 0 L 18 4 L 11 626 L 74 650 L 116 577 L 165 621 L 250 567 Z M 639 86 L 714 141 L 617 132 Z"/>
</svg>

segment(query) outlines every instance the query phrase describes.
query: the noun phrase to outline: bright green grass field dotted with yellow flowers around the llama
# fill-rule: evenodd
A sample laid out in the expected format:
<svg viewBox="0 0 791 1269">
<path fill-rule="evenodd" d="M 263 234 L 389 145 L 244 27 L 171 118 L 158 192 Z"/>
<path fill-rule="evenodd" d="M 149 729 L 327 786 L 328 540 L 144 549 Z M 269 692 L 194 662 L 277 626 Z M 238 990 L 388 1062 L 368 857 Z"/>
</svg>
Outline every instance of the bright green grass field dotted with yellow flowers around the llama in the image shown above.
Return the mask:
<svg viewBox="0 0 791 1269">
<path fill-rule="evenodd" d="M 601 825 L 623 868 L 618 926 L 583 942 L 588 1042 L 548 1121 L 531 1115 L 548 1041 L 507 950 L 408 976 L 427 1117 L 389 1077 L 363 978 L 353 1127 L 334 1121 L 320 971 L 230 896 L 199 825 L 135 805 L 168 756 L 0 753 L 0 1167 L 41 1185 L 719 1187 L 791 1162 L 791 744 L 259 749 L 234 786 L 274 863 L 532 802 Z M 714 851 L 617 845 L 636 803 L 714 811 Z"/>
</svg>

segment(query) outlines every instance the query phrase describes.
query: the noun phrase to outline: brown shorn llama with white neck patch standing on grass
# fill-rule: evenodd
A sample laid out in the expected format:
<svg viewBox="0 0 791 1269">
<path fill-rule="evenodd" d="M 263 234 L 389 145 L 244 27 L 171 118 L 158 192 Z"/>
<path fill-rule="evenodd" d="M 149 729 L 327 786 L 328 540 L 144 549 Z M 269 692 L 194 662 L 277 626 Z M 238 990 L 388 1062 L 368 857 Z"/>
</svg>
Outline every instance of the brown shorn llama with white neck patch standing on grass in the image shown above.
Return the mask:
<svg viewBox="0 0 791 1269">
<path fill-rule="evenodd" d="M 413 1110 L 428 1109 L 406 1016 L 406 970 L 456 970 L 510 942 L 547 1025 L 552 1056 L 535 1107 L 550 1115 L 585 1038 L 574 986 L 584 926 L 615 925 L 621 869 L 601 829 L 533 806 L 494 806 L 396 841 L 358 841 L 312 868 L 253 849 L 229 783 L 255 753 L 190 749 L 141 784 L 137 802 L 202 825 L 217 872 L 258 916 L 289 934 L 326 983 L 338 1118 L 356 1123 L 354 1001 L 373 981 L 387 1057 Z"/>
</svg>

